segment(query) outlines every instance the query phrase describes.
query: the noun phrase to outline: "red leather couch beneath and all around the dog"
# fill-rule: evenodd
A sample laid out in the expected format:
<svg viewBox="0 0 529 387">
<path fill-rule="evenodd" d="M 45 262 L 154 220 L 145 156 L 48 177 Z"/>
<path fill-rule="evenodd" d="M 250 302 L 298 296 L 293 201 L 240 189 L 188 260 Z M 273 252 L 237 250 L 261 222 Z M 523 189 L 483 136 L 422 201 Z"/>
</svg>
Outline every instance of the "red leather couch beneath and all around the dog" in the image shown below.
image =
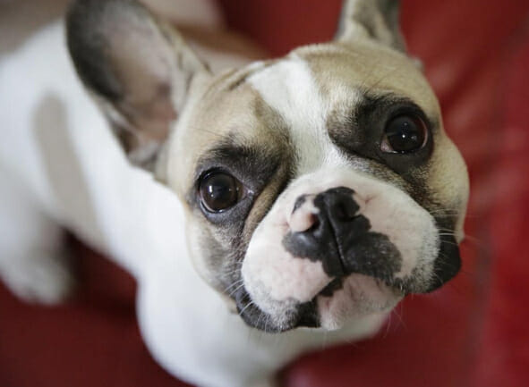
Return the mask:
<svg viewBox="0 0 529 387">
<path fill-rule="evenodd" d="M 276 54 L 333 35 L 340 0 L 220 0 L 235 29 Z M 529 385 L 529 2 L 405 0 L 445 126 L 469 166 L 472 196 L 456 280 L 397 307 L 370 340 L 311 353 L 286 387 Z M 73 241 L 80 289 L 34 307 L 0 287 L 0 386 L 177 387 L 149 357 L 134 283 Z M 0 285 L 1 286 L 1 285 Z"/>
</svg>

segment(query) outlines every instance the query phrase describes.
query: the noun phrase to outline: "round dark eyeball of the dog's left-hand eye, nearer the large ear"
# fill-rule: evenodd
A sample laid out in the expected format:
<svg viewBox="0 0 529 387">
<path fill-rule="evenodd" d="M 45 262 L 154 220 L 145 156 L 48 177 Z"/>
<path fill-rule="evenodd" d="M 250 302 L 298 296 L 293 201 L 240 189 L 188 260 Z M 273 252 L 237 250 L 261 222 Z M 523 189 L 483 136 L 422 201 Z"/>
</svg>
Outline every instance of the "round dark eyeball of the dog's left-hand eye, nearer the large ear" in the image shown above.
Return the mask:
<svg viewBox="0 0 529 387">
<path fill-rule="evenodd" d="M 226 210 L 237 203 L 239 189 L 235 178 L 222 172 L 210 173 L 201 182 L 201 199 L 211 212 Z"/>
</svg>

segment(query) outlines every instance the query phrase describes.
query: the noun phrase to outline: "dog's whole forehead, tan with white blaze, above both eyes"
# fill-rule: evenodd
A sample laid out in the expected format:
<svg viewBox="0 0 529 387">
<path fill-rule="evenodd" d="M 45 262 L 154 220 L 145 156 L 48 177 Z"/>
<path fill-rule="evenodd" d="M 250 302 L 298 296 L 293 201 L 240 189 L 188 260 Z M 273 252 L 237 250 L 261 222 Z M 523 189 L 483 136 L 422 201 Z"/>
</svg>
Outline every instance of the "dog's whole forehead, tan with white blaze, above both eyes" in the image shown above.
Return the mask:
<svg viewBox="0 0 529 387">
<path fill-rule="evenodd" d="M 328 120 L 354 112 L 366 95 L 403 97 L 429 117 L 439 105 L 412 60 L 379 46 L 305 46 L 284 58 L 252 63 L 218 75 L 175 130 L 188 155 L 183 171 L 219 143 L 285 149 L 303 174 L 320 167 L 351 166 L 328 135 Z M 182 168 L 178 168 L 182 169 Z M 176 173 L 175 173 L 176 174 Z M 180 174 L 180 173 L 178 173 Z M 181 174 L 180 174 L 181 175 Z"/>
</svg>

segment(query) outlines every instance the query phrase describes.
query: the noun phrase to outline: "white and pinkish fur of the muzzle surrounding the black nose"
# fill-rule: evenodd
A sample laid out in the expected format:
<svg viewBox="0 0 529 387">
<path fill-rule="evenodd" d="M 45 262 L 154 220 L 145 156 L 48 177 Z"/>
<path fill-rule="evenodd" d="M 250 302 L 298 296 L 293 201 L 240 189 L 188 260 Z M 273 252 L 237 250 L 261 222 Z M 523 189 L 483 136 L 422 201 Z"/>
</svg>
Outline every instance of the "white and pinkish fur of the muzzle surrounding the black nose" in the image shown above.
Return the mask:
<svg viewBox="0 0 529 387">
<path fill-rule="evenodd" d="M 321 168 L 298 178 L 277 198 L 254 231 L 243 260 L 246 290 L 276 324 L 283 323 L 286 311 L 294 307 L 293 301 L 313 299 L 332 281 L 319 262 L 293 257 L 282 241 L 286 233 L 293 231 L 288 220 L 296 199 L 302 195 L 313 198 L 336 187 L 353 189 L 360 206 L 358 214 L 370 221 L 371 231 L 387 235 L 397 247 L 402 267 L 396 278 L 406 278 L 414 272 L 425 289 L 431 280 L 433 262 L 439 253 L 439 234 L 430 213 L 400 189 L 351 167 Z M 311 207 L 306 206 L 307 209 L 310 211 Z M 336 329 L 358 315 L 388 312 L 402 298 L 399 292 L 363 275 L 349 276 L 344 288 L 332 299 L 317 297 L 321 326 Z"/>
</svg>

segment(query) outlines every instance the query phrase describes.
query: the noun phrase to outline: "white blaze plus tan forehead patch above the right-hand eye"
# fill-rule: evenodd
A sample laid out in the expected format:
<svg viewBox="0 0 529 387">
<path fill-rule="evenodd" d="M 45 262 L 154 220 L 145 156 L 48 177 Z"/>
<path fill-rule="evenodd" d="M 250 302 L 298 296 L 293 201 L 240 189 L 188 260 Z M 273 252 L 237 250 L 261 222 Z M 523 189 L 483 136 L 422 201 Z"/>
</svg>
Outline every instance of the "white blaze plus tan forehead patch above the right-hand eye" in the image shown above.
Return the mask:
<svg viewBox="0 0 529 387">
<path fill-rule="evenodd" d="M 388 64 L 390 63 L 390 64 Z M 411 60 L 391 50 L 305 46 L 245 78 L 286 122 L 298 172 L 348 163 L 328 136 L 328 120 L 350 117 L 368 95 L 406 98 L 431 117 L 437 100 Z"/>
</svg>

